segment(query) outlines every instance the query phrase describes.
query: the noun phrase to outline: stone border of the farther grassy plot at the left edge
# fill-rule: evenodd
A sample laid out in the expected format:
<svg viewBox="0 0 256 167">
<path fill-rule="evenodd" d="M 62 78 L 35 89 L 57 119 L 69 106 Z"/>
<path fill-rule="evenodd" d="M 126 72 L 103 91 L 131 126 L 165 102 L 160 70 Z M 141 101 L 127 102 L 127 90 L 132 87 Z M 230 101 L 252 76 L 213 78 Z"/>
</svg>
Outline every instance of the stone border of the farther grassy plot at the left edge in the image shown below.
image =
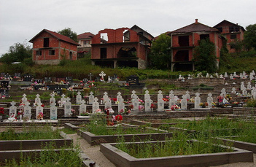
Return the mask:
<svg viewBox="0 0 256 167">
<path fill-rule="evenodd" d="M 69 136 L 66 136 L 66 133 L 61 131 L 60 134 L 63 139 L 39 139 L 39 140 L 8 140 L 0 141 L 0 160 L 2 152 L 12 152 L 12 150 L 20 151 L 20 147 L 22 146 L 22 150 L 28 149 L 42 149 L 42 144 L 49 144 L 51 142 L 55 142 L 57 148 L 61 148 L 63 146 L 70 146 L 72 145 L 72 139 Z"/>
</svg>

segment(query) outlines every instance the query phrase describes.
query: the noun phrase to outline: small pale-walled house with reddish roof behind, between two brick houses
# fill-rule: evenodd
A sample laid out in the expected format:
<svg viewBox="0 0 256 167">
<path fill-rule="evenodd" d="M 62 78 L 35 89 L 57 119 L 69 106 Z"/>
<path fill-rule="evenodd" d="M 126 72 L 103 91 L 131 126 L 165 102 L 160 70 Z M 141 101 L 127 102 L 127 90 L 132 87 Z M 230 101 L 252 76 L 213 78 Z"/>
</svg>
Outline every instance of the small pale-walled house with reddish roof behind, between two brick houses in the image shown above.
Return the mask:
<svg viewBox="0 0 256 167">
<path fill-rule="evenodd" d="M 85 32 L 77 36 L 79 44 L 79 46 L 77 47 L 78 58 L 82 58 L 85 54 L 90 53 L 90 49 L 92 47 L 90 44 L 92 43 L 93 36 L 95 35 L 90 32 Z"/>
</svg>

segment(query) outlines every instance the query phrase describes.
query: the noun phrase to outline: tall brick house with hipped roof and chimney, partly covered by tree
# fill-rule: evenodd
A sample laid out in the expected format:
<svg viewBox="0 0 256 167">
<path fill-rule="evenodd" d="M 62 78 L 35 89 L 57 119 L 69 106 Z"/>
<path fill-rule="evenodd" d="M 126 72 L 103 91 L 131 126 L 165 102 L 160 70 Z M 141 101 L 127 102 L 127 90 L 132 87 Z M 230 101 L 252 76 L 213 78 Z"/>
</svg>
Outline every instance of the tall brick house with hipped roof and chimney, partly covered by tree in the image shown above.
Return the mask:
<svg viewBox="0 0 256 167">
<path fill-rule="evenodd" d="M 220 57 L 222 39 L 217 28 L 212 28 L 195 19 L 195 23 L 171 31 L 171 71 L 193 71 L 193 50 L 201 39 L 209 39 L 215 44 L 216 56 Z M 218 66 L 218 62 L 217 62 Z"/>
</svg>

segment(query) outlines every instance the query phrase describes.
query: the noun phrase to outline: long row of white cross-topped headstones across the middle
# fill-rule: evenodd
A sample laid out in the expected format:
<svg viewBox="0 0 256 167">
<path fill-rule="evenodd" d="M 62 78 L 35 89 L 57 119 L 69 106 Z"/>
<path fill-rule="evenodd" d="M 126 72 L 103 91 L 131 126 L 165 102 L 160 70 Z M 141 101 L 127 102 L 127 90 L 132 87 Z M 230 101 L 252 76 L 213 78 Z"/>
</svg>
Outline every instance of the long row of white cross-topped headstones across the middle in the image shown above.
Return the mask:
<svg viewBox="0 0 256 167">
<path fill-rule="evenodd" d="M 249 85 L 247 85 L 247 88 L 245 88 L 244 86 L 244 82 L 241 82 L 241 90 L 242 90 L 242 94 L 244 96 L 247 95 L 247 90 L 251 90 L 251 95 L 253 98 L 256 98 L 256 88 L 255 87 L 249 87 Z M 236 88 L 232 89 L 233 94 L 236 94 Z M 220 96 L 225 97 L 226 96 L 226 90 L 225 88 L 222 88 Z M 50 120 L 57 120 L 57 106 L 56 106 L 56 102 L 55 102 L 55 94 L 51 93 L 51 98 L 50 98 Z M 171 90 L 170 94 L 169 94 L 169 108 L 171 108 L 171 106 L 176 105 L 177 101 L 179 98 L 177 98 L 177 96 L 174 96 L 174 91 Z M 181 109 L 182 110 L 186 110 L 187 109 L 187 100 L 190 99 L 190 92 L 187 90 L 186 94 L 182 96 L 182 99 L 180 101 L 180 105 L 181 105 Z M 77 104 L 79 104 L 79 115 L 82 113 L 87 112 L 86 108 L 87 108 L 87 104 L 85 104 L 85 100 L 82 100 L 82 96 L 81 93 L 78 92 L 77 93 Z M 123 97 L 121 96 L 121 93 L 117 93 L 117 105 L 118 105 L 118 111 L 120 111 L 121 109 L 125 109 L 125 103 L 123 100 Z M 208 93 L 208 97 L 207 97 L 207 103 L 208 104 L 212 104 L 213 98 L 212 98 L 212 93 Z M 136 95 L 136 91 L 133 90 L 132 94 L 131 94 L 131 104 L 133 105 L 133 111 L 134 112 L 139 112 L 139 105 L 140 105 L 140 101 L 139 101 L 139 97 Z M 144 94 L 144 111 L 145 112 L 151 112 L 152 111 L 152 106 L 151 104 L 153 103 L 153 101 L 150 99 L 150 94 L 149 91 L 146 90 L 145 94 Z M 28 99 L 26 98 L 26 94 L 23 94 L 23 98 L 22 98 L 22 102 L 21 105 L 23 107 L 23 117 L 27 117 L 28 120 L 31 119 L 31 106 L 30 103 L 28 102 Z M 72 112 L 71 112 L 71 102 L 70 102 L 70 98 L 69 97 L 65 97 L 65 95 L 63 94 L 61 96 L 61 101 L 58 101 L 58 104 L 60 107 L 64 107 L 64 116 L 65 117 L 70 117 Z M 109 109 L 112 108 L 112 100 L 111 98 L 109 98 L 108 93 L 104 93 L 103 96 L 103 100 L 101 100 L 101 104 L 104 104 L 104 108 L 105 109 Z M 163 94 L 162 91 L 159 90 L 158 91 L 158 102 L 157 102 L 157 106 L 158 112 L 163 112 L 164 111 L 164 104 L 165 101 L 163 101 Z M 195 108 L 200 108 L 201 104 L 201 98 L 200 98 L 200 93 L 195 93 Z M 9 107 L 9 114 L 17 114 L 17 107 L 15 106 L 15 101 L 12 101 L 11 103 L 12 106 Z M 98 98 L 93 96 L 93 92 L 90 92 L 90 96 L 89 96 L 89 101 L 88 101 L 88 105 L 92 105 L 92 113 L 96 113 L 96 111 L 98 109 L 100 109 L 99 107 L 99 102 L 98 102 Z M 36 95 L 35 98 L 35 103 L 34 106 L 36 107 L 36 117 L 37 115 L 42 112 L 43 114 L 43 110 L 44 108 L 42 107 L 42 102 L 41 102 L 41 98 L 39 98 L 39 95 Z M 208 105 L 209 108 L 212 108 L 212 105 Z"/>
</svg>

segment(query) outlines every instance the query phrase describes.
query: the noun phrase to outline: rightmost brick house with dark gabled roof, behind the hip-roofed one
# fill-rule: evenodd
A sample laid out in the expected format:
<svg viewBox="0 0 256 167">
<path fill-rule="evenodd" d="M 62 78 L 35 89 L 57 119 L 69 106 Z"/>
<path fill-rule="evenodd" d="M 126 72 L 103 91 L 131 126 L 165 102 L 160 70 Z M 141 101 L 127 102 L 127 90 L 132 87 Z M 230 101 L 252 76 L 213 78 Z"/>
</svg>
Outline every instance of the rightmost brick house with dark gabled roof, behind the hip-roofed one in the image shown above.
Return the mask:
<svg viewBox="0 0 256 167">
<path fill-rule="evenodd" d="M 227 41 L 227 48 L 229 53 L 235 53 L 236 50 L 233 47 L 236 42 L 240 42 L 244 39 L 244 27 L 238 24 L 231 23 L 227 20 L 223 20 L 218 23 L 214 28 L 217 28 L 222 36 L 225 37 Z M 233 44 L 232 44 L 233 43 Z"/>
</svg>

